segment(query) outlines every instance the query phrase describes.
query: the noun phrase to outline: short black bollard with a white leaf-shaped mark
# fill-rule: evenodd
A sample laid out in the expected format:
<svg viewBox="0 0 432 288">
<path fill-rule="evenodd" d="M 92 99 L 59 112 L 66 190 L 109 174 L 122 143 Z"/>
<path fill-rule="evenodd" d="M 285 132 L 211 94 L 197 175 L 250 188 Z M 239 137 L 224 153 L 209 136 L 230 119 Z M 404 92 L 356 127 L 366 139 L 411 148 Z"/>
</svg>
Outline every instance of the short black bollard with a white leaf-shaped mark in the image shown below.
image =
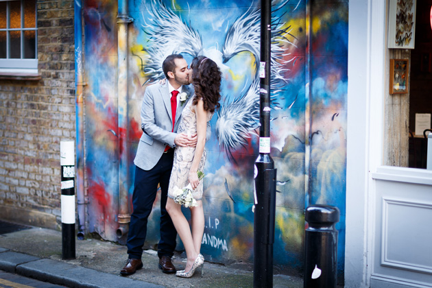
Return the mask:
<svg viewBox="0 0 432 288">
<path fill-rule="evenodd" d="M 306 209 L 309 224 L 304 237 L 304 288 L 332 288 L 337 283 L 337 230 L 339 209 L 311 205 Z"/>
</svg>

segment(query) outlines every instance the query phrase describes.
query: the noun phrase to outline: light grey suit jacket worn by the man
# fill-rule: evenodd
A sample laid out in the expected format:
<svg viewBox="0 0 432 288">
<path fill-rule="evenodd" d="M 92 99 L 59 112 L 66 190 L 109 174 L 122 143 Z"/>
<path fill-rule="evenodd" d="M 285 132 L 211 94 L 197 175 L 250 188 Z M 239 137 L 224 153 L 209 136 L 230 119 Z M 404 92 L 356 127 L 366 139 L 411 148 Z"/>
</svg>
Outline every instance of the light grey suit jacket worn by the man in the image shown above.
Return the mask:
<svg viewBox="0 0 432 288">
<path fill-rule="evenodd" d="M 193 95 L 192 86 L 183 86 L 182 92 L 188 93 L 189 99 Z M 186 102 L 180 102 L 176 111 L 176 122 L 172 130 L 171 94 L 167 82 L 153 84 L 145 88 L 143 104 L 141 106 L 141 128 L 144 132 L 136 150 L 134 164 L 143 170 L 152 169 L 162 156 L 167 145 L 173 147 L 174 139 L 182 110 Z"/>
</svg>

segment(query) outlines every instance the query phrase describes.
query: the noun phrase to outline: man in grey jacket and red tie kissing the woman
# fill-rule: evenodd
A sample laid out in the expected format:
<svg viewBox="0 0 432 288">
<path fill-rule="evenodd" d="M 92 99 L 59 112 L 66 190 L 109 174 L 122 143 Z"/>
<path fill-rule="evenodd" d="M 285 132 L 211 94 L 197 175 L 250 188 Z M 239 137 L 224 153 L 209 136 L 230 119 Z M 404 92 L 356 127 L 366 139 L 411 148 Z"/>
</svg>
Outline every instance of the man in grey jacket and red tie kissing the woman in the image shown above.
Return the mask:
<svg viewBox="0 0 432 288">
<path fill-rule="evenodd" d="M 147 235 L 147 219 L 152 212 L 158 184 L 161 191 L 159 268 L 164 273 L 176 272 L 171 257 L 176 248 L 177 232 L 165 208 L 169 176 L 173 166 L 173 147 L 195 146 L 197 137 L 176 133 L 185 106 L 184 103 L 180 103 L 180 94 L 186 93 L 188 99 L 193 95 L 193 89 L 187 86 L 189 69 L 186 60 L 180 54 L 170 55 L 163 62 L 162 69 L 167 82 L 147 86 L 141 107 L 143 135 L 134 160 L 134 211 L 130 217 L 127 241 L 129 259 L 120 272 L 123 276 L 134 274 L 137 269 L 143 267 L 141 256 Z"/>
</svg>

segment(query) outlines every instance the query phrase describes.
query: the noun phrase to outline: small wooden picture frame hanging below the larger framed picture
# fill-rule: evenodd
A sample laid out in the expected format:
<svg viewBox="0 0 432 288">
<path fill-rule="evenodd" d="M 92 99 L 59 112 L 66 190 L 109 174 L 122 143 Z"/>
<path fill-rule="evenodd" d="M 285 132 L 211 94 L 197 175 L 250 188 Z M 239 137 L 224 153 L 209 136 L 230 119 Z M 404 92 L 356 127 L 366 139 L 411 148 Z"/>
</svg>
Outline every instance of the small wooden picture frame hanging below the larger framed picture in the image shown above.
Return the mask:
<svg viewBox="0 0 432 288">
<path fill-rule="evenodd" d="M 408 59 L 390 59 L 390 94 L 408 93 Z"/>
</svg>

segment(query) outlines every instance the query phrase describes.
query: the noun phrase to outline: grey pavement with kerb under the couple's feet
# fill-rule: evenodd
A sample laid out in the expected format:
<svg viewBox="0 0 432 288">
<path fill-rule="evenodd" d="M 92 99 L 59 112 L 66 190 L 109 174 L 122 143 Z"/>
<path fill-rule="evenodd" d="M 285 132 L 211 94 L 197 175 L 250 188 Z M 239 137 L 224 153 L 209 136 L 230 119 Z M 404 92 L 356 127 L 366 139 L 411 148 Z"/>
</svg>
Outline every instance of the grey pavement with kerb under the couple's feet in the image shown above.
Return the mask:
<svg viewBox="0 0 432 288">
<path fill-rule="evenodd" d="M 143 253 L 143 269 L 130 276 L 121 276 L 120 269 L 128 255 L 125 245 L 101 239 L 75 239 L 73 260 L 62 259 L 62 232 L 30 228 L 0 235 L 0 269 L 65 287 L 253 287 L 253 263 L 204 263 L 204 276 L 179 278 L 158 269 L 155 250 Z M 173 256 L 173 264 L 183 269 L 184 252 Z M 276 274 L 273 287 L 303 287 L 303 279 Z"/>
</svg>

